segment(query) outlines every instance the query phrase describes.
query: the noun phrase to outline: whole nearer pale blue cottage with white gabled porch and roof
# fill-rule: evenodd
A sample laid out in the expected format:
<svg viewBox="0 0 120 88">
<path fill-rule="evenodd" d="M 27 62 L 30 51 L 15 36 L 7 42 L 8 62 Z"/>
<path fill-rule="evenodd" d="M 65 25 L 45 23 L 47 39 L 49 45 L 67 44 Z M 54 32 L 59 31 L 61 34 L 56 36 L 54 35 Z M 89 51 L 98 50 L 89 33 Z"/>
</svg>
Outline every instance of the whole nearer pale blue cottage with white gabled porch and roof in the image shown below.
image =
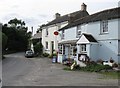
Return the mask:
<svg viewBox="0 0 120 88">
<path fill-rule="evenodd" d="M 120 14 L 118 13 L 120 7 L 104 10 L 77 19 L 61 28 L 59 32 L 64 36 L 64 40 L 59 40 L 59 50 L 62 53 L 59 53 L 58 61 L 72 58 L 79 64 L 86 58 L 91 60 L 112 58 L 118 62 L 120 59 Z M 75 54 L 72 53 L 73 47 L 75 50 L 77 47 Z"/>
</svg>

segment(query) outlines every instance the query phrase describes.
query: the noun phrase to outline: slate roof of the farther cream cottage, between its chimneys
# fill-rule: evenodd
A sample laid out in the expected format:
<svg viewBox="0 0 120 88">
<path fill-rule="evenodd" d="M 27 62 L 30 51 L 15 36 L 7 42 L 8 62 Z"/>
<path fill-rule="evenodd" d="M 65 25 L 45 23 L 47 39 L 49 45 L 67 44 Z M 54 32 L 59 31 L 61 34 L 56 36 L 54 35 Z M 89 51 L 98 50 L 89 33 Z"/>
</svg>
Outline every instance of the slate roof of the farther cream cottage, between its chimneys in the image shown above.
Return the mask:
<svg viewBox="0 0 120 88">
<path fill-rule="evenodd" d="M 81 10 L 76 11 L 76 12 L 73 12 L 73 13 L 70 13 L 70 14 L 67 14 L 67 15 L 60 16 L 59 18 L 54 19 L 53 21 L 49 22 L 48 24 L 46 24 L 44 26 L 49 26 L 49 25 L 53 25 L 53 24 L 56 24 L 56 23 L 69 21 L 69 19 L 70 19 L 69 15 L 73 17 L 72 20 L 76 20 L 78 18 L 82 18 L 84 16 L 89 15 L 89 13 L 87 11 L 81 11 Z"/>
</svg>

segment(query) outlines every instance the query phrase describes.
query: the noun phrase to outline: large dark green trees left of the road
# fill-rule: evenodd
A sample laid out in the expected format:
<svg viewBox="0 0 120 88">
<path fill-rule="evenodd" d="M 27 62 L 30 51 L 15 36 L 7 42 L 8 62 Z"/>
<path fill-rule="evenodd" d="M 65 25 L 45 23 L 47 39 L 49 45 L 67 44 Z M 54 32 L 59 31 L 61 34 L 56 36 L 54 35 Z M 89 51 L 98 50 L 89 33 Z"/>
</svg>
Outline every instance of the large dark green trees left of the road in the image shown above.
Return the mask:
<svg viewBox="0 0 120 88">
<path fill-rule="evenodd" d="M 10 20 L 8 24 L 2 26 L 2 32 L 8 37 L 6 45 L 8 51 L 27 50 L 31 33 L 27 33 L 25 22 L 15 18 Z"/>
</svg>

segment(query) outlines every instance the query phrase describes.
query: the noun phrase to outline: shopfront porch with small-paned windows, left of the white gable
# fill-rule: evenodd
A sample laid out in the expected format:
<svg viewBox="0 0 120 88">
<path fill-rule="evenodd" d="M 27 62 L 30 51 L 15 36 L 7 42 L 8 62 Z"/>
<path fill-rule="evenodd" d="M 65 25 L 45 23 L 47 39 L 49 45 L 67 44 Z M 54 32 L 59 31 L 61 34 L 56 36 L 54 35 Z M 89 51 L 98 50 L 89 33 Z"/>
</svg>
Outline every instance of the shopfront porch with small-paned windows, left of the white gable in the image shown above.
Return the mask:
<svg viewBox="0 0 120 88">
<path fill-rule="evenodd" d="M 58 62 L 63 64 L 71 64 L 77 55 L 77 40 L 62 41 L 58 44 Z"/>
</svg>

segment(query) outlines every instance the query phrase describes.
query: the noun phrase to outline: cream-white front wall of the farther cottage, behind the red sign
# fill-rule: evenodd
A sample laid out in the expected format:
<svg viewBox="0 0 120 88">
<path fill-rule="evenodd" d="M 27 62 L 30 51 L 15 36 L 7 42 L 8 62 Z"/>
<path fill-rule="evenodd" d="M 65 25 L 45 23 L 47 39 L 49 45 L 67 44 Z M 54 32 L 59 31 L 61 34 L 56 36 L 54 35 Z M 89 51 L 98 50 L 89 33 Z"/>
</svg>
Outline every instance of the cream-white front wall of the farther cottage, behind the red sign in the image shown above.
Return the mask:
<svg viewBox="0 0 120 88">
<path fill-rule="evenodd" d="M 63 22 L 63 23 L 60 23 L 60 24 L 57 24 L 57 25 L 60 25 L 60 27 L 64 27 L 65 25 L 67 25 L 68 23 L 67 22 Z M 46 53 L 49 53 L 51 54 L 51 41 L 54 41 L 54 49 L 57 51 L 58 50 L 58 38 L 59 36 L 56 36 L 54 35 L 54 32 L 55 31 L 58 31 L 58 26 L 57 25 L 51 25 L 51 26 L 48 26 L 48 36 L 46 37 L 46 28 L 44 28 L 42 30 L 42 44 L 43 44 L 43 52 L 46 52 Z M 46 50 L 45 49 L 45 46 L 46 46 L 46 41 L 48 42 L 48 49 Z"/>
</svg>

